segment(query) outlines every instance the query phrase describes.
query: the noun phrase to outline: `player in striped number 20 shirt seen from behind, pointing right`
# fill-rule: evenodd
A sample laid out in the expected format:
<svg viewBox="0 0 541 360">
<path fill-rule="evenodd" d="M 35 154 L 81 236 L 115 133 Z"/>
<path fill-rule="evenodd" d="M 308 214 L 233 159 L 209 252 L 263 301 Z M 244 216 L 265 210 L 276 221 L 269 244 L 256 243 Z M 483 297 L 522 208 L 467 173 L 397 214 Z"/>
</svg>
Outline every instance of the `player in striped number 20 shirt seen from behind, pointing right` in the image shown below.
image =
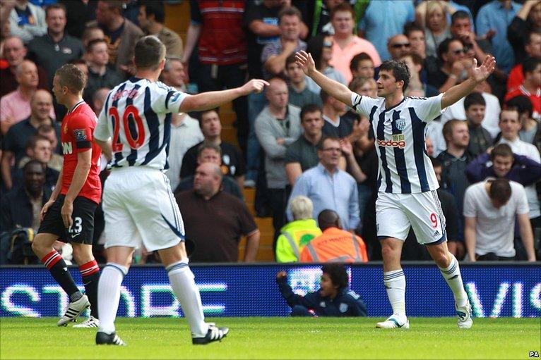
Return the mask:
<svg viewBox="0 0 541 360">
<path fill-rule="evenodd" d="M 138 40 L 133 60 L 135 76 L 109 92 L 94 134 L 111 159 L 111 174 L 103 193 L 108 262 L 98 287 L 102 312 L 96 344 L 125 345 L 116 334 L 114 319 L 120 285 L 133 250 L 141 244 L 160 254 L 189 323 L 192 343 L 222 340 L 229 329 L 205 322 L 199 290 L 188 266 L 182 216 L 164 173 L 168 168 L 171 116 L 215 108 L 251 92 L 261 92 L 268 82 L 252 79 L 235 89 L 184 94 L 157 82 L 165 66 L 165 46 L 153 36 Z"/>
</svg>

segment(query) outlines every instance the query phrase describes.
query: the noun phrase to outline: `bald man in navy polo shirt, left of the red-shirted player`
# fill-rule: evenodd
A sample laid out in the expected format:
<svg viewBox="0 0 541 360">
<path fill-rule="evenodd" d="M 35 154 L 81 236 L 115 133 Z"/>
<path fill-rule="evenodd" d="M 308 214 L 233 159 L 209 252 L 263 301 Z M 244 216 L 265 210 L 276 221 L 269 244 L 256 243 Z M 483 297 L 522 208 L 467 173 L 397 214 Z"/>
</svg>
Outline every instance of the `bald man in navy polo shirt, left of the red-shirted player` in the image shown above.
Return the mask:
<svg viewBox="0 0 541 360">
<path fill-rule="evenodd" d="M 59 125 L 52 119 L 52 95 L 47 90 L 37 90 L 30 98 L 30 116 L 9 128 L 5 137 L 5 151 L 1 158 L 1 173 L 8 189 L 13 187 L 11 163 L 15 160 L 18 168 L 20 159 L 25 156 L 25 145 L 32 135 L 37 134 L 37 128 L 43 124 L 54 126 L 59 136 Z M 15 184 L 17 185 L 17 184 Z"/>
</svg>

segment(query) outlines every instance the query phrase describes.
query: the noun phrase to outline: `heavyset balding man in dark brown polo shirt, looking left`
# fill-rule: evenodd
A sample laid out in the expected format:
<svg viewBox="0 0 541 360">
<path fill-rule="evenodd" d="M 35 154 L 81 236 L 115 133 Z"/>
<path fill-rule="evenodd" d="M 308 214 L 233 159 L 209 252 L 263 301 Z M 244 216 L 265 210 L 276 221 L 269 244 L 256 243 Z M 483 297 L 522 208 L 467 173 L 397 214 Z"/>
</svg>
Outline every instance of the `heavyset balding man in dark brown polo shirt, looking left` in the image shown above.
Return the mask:
<svg viewBox="0 0 541 360">
<path fill-rule="evenodd" d="M 196 170 L 194 191 L 177 194 L 186 237 L 195 243 L 192 262 L 235 262 L 239 241 L 246 236 L 244 262 L 256 260 L 259 230 L 244 201 L 220 190 L 222 170 L 202 163 Z M 201 226 L 202 224 L 212 224 Z"/>
</svg>

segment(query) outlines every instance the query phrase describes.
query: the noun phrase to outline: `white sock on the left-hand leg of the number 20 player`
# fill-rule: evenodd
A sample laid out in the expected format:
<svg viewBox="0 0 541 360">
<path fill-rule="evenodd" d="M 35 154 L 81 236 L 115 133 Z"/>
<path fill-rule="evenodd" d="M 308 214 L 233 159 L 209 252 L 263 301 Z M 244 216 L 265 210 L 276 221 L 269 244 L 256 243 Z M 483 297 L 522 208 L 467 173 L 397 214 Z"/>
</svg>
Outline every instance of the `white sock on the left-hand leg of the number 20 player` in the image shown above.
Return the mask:
<svg viewBox="0 0 541 360">
<path fill-rule="evenodd" d="M 100 314 L 100 328 L 103 333 L 114 333 L 114 319 L 120 301 L 120 285 L 128 269 L 117 263 L 107 263 L 97 284 L 97 314 Z"/>
</svg>

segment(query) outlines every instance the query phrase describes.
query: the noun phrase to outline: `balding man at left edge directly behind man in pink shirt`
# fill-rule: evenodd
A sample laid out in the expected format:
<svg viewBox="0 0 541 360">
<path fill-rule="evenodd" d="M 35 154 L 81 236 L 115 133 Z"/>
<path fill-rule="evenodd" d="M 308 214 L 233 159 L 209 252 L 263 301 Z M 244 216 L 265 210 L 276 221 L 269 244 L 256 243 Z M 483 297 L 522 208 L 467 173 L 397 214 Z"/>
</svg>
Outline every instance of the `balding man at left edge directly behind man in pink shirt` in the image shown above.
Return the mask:
<svg viewBox="0 0 541 360">
<path fill-rule="evenodd" d="M 0 70 L 0 79 L 2 80 L 0 81 L 0 97 L 17 89 L 15 70 L 25 59 L 26 52 L 26 47 L 19 37 L 10 36 L 4 39 L 4 51 L 1 55 L 8 61 L 9 66 Z M 47 73 L 40 66 L 37 67 L 37 75 L 40 79 L 37 87 L 47 89 Z"/>
</svg>

